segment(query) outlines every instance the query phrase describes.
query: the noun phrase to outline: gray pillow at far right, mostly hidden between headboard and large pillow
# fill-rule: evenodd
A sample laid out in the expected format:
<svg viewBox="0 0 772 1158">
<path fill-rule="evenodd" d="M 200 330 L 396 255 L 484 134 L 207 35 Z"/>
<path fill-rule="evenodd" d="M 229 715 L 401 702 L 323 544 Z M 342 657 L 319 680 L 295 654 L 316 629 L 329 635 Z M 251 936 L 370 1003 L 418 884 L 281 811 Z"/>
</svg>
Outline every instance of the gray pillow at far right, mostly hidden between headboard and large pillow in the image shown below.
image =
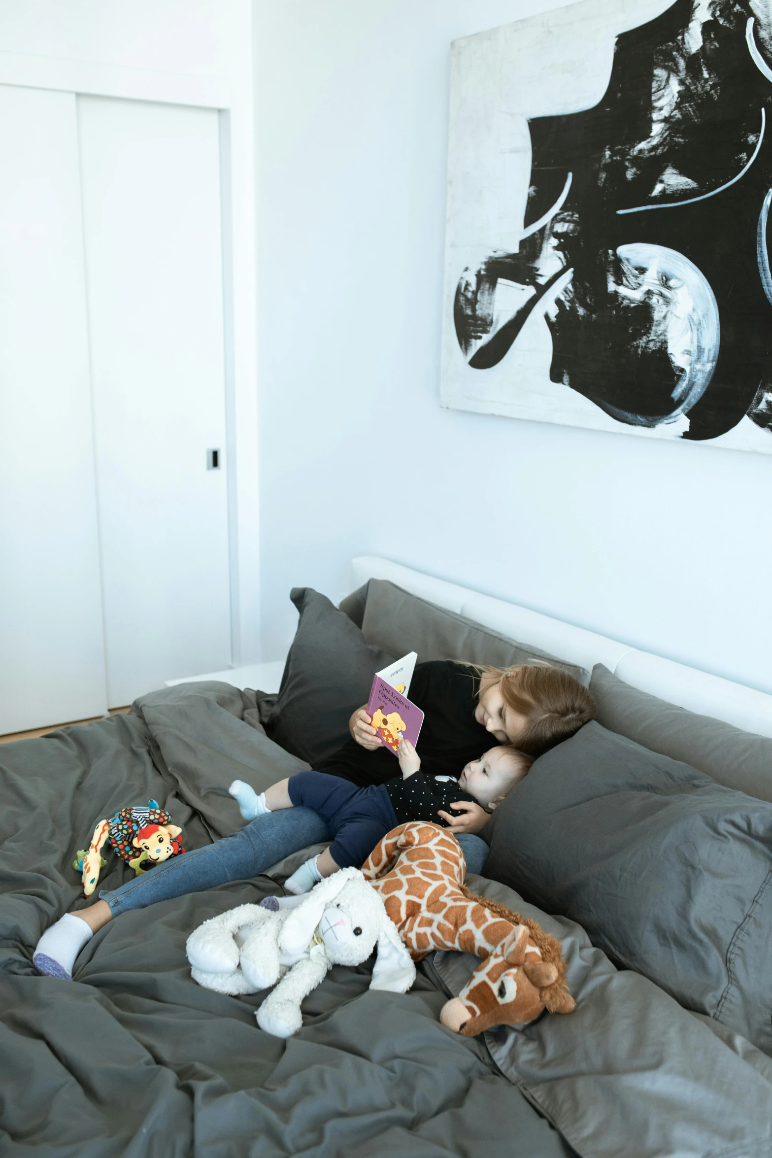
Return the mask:
<svg viewBox="0 0 772 1158">
<path fill-rule="evenodd" d="M 772 740 L 631 688 L 603 664 L 593 668 L 590 691 L 597 721 L 610 732 L 683 760 L 719 784 L 772 801 Z"/>
</svg>

